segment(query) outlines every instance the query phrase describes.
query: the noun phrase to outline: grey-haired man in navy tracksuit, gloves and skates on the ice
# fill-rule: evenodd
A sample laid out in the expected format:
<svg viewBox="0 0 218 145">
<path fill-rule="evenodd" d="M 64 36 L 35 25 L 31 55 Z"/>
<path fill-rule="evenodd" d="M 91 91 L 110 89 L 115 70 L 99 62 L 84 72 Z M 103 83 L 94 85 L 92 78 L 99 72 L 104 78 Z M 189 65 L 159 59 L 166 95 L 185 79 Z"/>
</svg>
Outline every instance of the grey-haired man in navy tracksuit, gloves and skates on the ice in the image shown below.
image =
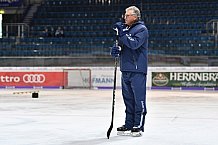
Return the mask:
<svg viewBox="0 0 218 145">
<path fill-rule="evenodd" d="M 119 33 L 119 46 L 113 46 L 111 55 L 120 57 L 122 95 L 126 106 L 125 125 L 117 128 L 118 135 L 141 136 L 144 131 L 146 110 L 146 76 L 148 30 L 140 21 L 140 10 L 126 8 L 125 23 L 114 27 Z"/>
</svg>

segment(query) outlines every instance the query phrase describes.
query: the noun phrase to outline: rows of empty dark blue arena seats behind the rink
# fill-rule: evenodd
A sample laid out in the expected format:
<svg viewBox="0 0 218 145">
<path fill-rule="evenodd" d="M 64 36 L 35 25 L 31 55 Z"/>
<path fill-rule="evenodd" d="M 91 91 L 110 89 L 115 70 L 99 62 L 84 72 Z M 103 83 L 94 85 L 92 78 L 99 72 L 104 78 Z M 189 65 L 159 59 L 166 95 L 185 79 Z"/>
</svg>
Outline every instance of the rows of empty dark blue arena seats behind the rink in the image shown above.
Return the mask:
<svg viewBox="0 0 218 145">
<path fill-rule="evenodd" d="M 217 40 L 206 29 L 207 22 L 218 19 L 215 0 L 44 0 L 33 17 L 29 37 L 0 39 L 4 42 L 0 55 L 109 56 L 113 23 L 129 5 L 142 10 L 150 55 L 218 55 Z M 64 29 L 63 38 L 42 35 L 45 28 L 59 26 Z"/>
</svg>

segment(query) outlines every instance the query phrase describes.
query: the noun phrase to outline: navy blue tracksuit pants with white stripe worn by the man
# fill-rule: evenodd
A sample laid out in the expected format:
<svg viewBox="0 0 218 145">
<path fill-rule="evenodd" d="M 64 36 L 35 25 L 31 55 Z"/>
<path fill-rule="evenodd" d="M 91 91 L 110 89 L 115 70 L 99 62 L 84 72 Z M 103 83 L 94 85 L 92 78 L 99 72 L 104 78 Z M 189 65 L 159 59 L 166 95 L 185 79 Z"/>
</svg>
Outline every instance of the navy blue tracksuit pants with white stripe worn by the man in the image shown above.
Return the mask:
<svg viewBox="0 0 218 145">
<path fill-rule="evenodd" d="M 146 109 L 146 74 L 122 72 L 122 95 L 126 106 L 125 127 L 144 131 Z"/>
</svg>

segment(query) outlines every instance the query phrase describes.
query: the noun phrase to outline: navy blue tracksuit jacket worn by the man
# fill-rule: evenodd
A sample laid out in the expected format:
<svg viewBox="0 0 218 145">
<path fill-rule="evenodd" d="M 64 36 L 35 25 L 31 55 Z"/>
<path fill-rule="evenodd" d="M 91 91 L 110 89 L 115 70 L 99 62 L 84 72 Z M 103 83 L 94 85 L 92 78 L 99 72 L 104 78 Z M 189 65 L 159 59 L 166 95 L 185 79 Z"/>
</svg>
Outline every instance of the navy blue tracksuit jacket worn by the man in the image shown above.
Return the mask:
<svg viewBox="0 0 218 145">
<path fill-rule="evenodd" d="M 119 37 L 119 45 L 120 70 L 147 74 L 148 30 L 144 22 L 133 24 L 126 35 Z"/>
</svg>

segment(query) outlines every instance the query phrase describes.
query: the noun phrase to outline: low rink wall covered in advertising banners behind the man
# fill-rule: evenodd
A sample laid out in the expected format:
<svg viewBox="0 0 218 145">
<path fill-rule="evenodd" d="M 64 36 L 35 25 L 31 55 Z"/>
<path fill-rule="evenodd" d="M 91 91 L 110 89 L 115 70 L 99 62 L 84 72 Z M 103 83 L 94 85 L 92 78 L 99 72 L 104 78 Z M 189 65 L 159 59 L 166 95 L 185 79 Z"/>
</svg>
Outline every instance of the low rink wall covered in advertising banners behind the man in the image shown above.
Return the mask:
<svg viewBox="0 0 218 145">
<path fill-rule="evenodd" d="M 64 69 L 90 69 L 92 88 L 113 87 L 114 67 L 1 67 L 0 88 L 63 88 Z M 149 67 L 147 76 L 148 89 L 218 90 L 218 67 Z"/>
</svg>

